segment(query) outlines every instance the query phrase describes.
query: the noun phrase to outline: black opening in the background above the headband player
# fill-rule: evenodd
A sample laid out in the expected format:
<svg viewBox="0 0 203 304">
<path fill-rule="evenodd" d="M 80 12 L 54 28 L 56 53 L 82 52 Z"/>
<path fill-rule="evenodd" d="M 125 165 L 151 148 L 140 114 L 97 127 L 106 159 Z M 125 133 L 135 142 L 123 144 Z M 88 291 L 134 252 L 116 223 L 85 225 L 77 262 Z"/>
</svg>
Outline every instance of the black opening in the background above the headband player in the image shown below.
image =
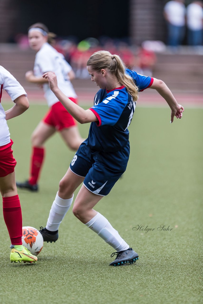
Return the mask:
<svg viewBox="0 0 203 304">
<path fill-rule="evenodd" d="M 68 33 L 79 40 L 103 35 L 128 36 L 129 0 L 16 2 L 19 10 L 17 33 L 27 33 L 31 24 L 42 22 L 57 35 L 66 37 Z"/>
</svg>

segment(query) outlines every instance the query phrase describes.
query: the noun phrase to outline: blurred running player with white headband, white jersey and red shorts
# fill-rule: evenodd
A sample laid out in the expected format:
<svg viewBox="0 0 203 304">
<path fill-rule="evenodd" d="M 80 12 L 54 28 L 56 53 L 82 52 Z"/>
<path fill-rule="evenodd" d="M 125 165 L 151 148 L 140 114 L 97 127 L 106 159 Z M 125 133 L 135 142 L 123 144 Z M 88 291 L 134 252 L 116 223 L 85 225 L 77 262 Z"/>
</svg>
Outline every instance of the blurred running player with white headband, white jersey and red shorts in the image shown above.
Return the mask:
<svg viewBox="0 0 203 304">
<path fill-rule="evenodd" d="M 72 150 L 77 150 L 83 139 L 81 138 L 75 119 L 67 112 L 57 97 L 51 92 L 48 80 L 42 78 L 47 71 L 57 75 L 58 86 L 61 91 L 77 103 L 77 95 L 71 84 L 75 77 L 71 66 L 66 62 L 64 56 L 57 52 L 49 43 L 53 41 L 53 33 L 49 33 L 47 27 L 42 23 L 35 23 L 28 29 L 28 41 L 31 49 L 37 52 L 34 62 L 34 71 L 26 73 L 27 81 L 42 85 L 44 96 L 50 110 L 44 119 L 34 130 L 32 142 L 32 156 L 30 163 L 30 178 L 25 182 L 17 182 L 19 188 L 37 191 L 37 181 L 44 160 L 44 143 L 56 131 L 60 132 L 63 140 Z"/>
</svg>

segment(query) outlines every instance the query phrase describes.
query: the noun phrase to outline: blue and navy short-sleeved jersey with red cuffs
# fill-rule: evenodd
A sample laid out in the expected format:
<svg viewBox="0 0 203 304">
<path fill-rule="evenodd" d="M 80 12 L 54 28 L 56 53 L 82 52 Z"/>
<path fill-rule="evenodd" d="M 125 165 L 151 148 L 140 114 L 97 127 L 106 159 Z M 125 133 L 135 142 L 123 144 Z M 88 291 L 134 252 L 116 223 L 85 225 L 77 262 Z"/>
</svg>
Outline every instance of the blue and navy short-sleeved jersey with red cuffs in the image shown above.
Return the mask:
<svg viewBox="0 0 203 304">
<path fill-rule="evenodd" d="M 153 78 L 126 69 L 139 91 L 153 83 Z M 90 110 L 98 122 L 90 125 L 88 145 L 93 150 L 114 152 L 126 146 L 129 139 L 128 126 L 131 123 L 136 103 L 124 86 L 107 91 L 100 89 Z"/>
</svg>

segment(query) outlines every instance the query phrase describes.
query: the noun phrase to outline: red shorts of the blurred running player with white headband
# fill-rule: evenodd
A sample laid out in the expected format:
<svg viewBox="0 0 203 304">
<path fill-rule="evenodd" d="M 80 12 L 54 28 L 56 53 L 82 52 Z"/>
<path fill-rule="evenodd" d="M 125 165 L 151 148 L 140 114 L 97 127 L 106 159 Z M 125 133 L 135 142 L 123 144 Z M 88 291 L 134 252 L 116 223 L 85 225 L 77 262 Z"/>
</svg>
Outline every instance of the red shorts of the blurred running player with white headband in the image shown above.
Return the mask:
<svg viewBox="0 0 203 304">
<path fill-rule="evenodd" d="M 77 104 L 77 99 L 72 97 L 69 97 L 69 99 Z M 77 125 L 76 120 L 70 115 L 70 113 L 68 113 L 60 101 L 52 105 L 51 109 L 47 112 L 42 121 L 53 126 L 58 131 Z"/>
</svg>

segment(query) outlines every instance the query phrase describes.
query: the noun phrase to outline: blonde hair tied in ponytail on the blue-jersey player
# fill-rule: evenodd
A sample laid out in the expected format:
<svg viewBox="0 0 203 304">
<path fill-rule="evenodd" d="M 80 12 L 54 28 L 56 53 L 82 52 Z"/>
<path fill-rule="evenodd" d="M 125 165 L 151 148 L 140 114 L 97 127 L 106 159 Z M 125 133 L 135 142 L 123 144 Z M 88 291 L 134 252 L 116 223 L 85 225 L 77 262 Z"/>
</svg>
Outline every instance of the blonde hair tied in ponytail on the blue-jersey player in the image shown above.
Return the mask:
<svg viewBox="0 0 203 304">
<path fill-rule="evenodd" d="M 108 51 L 98 51 L 89 57 L 87 65 L 91 65 L 95 71 L 107 68 L 127 88 L 133 101 L 138 99 L 138 87 L 132 77 L 125 73 L 125 64 L 118 55 L 112 55 Z"/>
</svg>

